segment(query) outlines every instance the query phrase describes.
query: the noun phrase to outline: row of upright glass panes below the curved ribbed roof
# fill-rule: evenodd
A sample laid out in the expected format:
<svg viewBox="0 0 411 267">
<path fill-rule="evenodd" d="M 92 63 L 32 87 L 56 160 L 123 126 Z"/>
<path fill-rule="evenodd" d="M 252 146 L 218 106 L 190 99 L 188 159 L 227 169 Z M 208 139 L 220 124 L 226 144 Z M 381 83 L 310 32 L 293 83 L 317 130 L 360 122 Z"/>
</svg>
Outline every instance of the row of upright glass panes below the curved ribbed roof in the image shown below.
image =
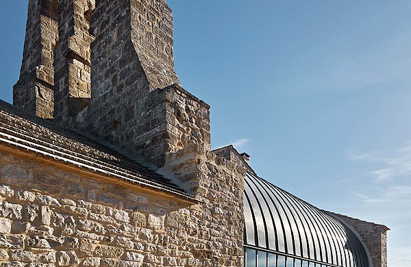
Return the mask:
<svg viewBox="0 0 411 267">
<path fill-rule="evenodd" d="M 255 249 L 245 249 L 245 267 L 332 267 L 326 264 L 308 262 L 295 257 L 266 253 Z"/>
</svg>

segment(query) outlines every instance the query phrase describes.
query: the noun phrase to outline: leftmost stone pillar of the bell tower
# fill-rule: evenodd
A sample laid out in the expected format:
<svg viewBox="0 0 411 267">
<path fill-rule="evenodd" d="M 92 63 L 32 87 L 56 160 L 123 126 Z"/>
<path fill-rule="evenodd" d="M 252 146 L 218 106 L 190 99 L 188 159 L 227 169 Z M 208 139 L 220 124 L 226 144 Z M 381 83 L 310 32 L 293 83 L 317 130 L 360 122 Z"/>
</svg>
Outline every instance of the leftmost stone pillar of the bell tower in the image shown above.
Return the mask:
<svg viewBox="0 0 411 267">
<path fill-rule="evenodd" d="M 21 73 L 13 88 L 14 105 L 41 118 L 53 118 L 53 51 L 58 42 L 57 17 L 57 1 L 29 1 Z"/>
</svg>

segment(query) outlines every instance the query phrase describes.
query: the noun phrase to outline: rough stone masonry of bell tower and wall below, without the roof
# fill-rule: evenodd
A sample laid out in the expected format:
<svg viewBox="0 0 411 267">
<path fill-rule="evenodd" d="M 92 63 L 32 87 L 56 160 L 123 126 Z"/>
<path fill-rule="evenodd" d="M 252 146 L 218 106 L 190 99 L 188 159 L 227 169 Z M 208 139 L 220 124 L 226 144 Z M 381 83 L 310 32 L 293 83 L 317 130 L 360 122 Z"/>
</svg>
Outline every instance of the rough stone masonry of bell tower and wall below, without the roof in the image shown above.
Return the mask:
<svg viewBox="0 0 411 267">
<path fill-rule="evenodd" d="M 27 151 L 0 155 L 2 266 L 242 266 L 245 169 L 174 70 L 165 0 L 29 0 L 14 104 L 127 151 L 198 203 Z"/>
</svg>

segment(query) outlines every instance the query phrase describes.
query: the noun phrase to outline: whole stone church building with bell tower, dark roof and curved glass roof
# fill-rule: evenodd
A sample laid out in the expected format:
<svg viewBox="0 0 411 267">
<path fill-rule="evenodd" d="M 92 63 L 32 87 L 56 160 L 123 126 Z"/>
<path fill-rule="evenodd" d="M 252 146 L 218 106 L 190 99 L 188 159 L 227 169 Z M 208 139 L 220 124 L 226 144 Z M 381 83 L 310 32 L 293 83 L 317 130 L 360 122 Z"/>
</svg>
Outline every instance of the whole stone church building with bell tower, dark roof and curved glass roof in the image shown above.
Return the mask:
<svg viewBox="0 0 411 267">
<path fill-rule="evenodd" d="M 13 90 L 0 101 L 3 267 L 386 267 L 387 227 L 211 150 L 165 0 L 29 0 Z"/>
</svg>

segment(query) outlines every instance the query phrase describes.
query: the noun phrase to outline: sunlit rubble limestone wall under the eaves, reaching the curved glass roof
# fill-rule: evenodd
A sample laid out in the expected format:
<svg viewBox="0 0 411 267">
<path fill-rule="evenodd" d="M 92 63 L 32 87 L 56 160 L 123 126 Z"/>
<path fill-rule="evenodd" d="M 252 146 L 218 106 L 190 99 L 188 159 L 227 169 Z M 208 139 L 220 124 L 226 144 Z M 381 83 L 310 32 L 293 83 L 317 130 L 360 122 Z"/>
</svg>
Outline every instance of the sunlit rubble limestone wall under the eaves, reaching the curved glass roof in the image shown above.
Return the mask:
<svg viewBox="0 0 411 267">
<path fill-rule="evenodd" d="M 242 266 L 234 162 L 208 154 L 195 205 L 1 150 L 1 266 Z"/>
</svg>

